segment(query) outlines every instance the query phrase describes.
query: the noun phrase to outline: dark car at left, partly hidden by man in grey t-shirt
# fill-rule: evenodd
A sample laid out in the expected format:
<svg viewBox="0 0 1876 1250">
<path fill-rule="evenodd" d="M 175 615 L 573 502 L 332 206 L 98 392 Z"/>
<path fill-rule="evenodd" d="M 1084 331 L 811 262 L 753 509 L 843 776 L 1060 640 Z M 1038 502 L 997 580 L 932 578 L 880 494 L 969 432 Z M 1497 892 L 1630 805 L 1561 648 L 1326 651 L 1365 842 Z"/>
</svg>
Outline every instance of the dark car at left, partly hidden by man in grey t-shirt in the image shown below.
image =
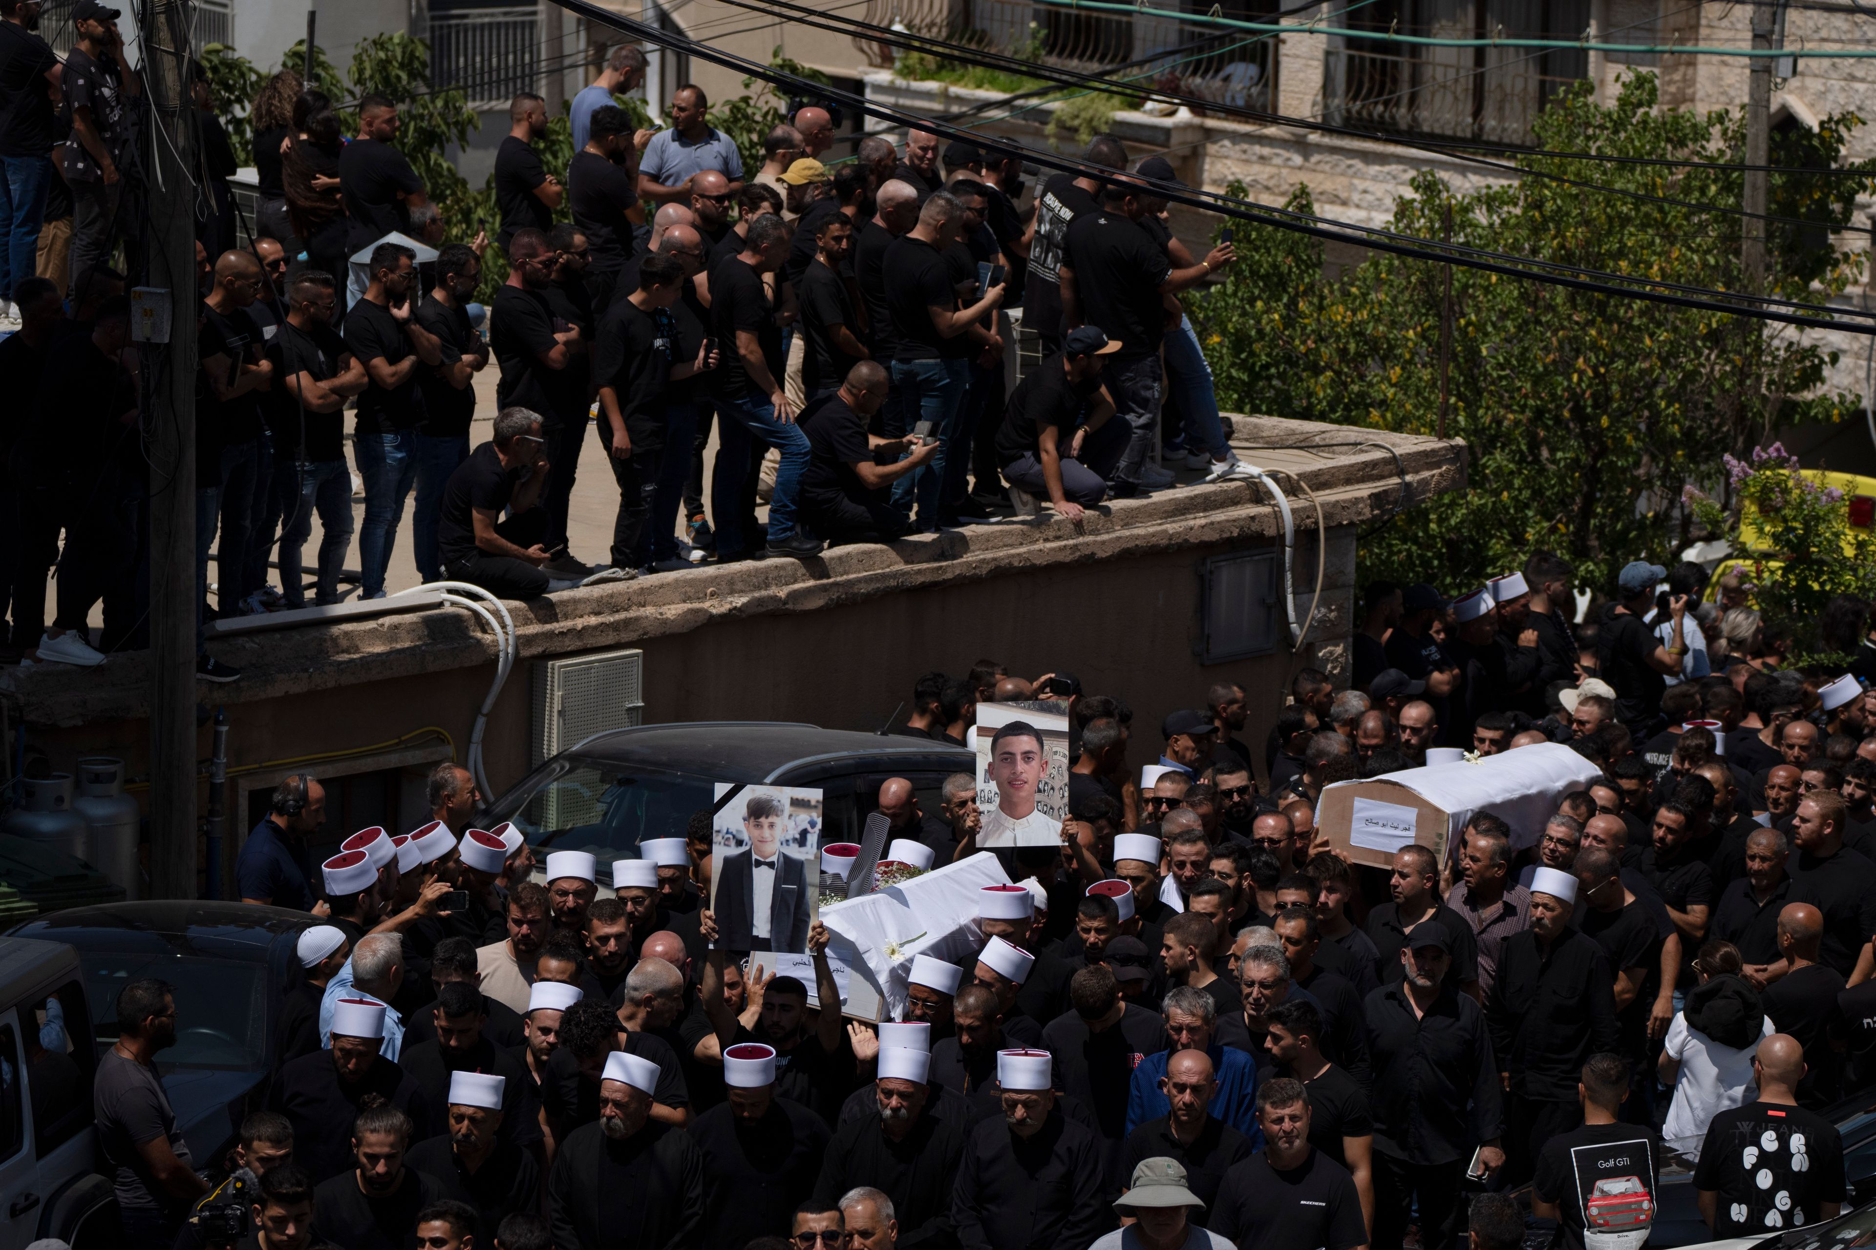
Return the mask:
<svg viewBox="0 0 1876 1250">
<path fill-rule="evenodd" d="M 176 1044 L 156 1066 L 195 1166 L 214 1168 L 248 1111 L 266 1098 L 274 1021 L 289 976 L 298 976 L 295 946 L 310 924 L 317 922 L 304 911 L 283 907 L 148 901 L 56 911 L 15 926 L 11 935 L 77 952 L 90 1016 L 73 1021 L 68 1010 L 66 1027 L 73 1042 L 90 1038 L 94 1053 L 116 1042 L 124 986 L 158 976 L 176 988 Z M 8 1250 L 4 1241 L 0 1250 Z"/>
</svg>

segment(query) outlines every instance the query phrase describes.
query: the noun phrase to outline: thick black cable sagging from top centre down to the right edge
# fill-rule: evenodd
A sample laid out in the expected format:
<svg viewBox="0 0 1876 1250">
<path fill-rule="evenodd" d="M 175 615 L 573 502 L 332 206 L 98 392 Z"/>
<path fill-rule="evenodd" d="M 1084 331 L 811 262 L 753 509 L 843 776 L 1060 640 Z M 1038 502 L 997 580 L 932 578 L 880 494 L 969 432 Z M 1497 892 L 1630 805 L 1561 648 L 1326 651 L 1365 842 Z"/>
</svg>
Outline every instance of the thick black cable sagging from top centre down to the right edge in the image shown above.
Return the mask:
<svg viewBox="0 0 1876 1250">
<path fill-rule="evenodd" d="M 692 39 L 673 37 L 670 32 L 655 30 L 634 19 L 612 13 L 608 9 L 600 9 L 597 4 L 591 4 L 591 0 L 557 0 L 557 4 L 561 7 L 585 15 L 587 21 L 612 24 L 649 43 L 658 43 L 664 47 L 679 47 L 698 60 L 705 60 L 722 66 L 726 69 L 739 69 L 754 79 L 764 79 L 777 86 L 807 88 L 803 94 L 839 99 L 846 105 L 852 105 L 854 109 L 863 109 L 876 118 L 887 120 L 893 126 L 923 129 L 927 133 L 949 139 L 968 139 L 968 141 L 977 139 L 977 135 L 947 126 L 944 122 L 914 116 L 899 109 L 880 107 L 878 103 L 867 101 L 855 96 L 854 92 L 827 88 L 824 84 L 812 84 L 807 79 L 801 79 L 799 75 L 752 62 L 745 56 L 722 52 L 719 49 L 700 45 Z M 1024 148 L 1022 144 L 1017 142 L 1006 142 L 1004 146 L 1026 154 L 1041 167 L 1071 172 L 1077 176 L 1111 178 L 1114 172 L 1092 167 L 1086 161 L 1064 157 L 1056 152 Z M 1227 197 L 1212 191 L 1193 191 L 1191 187 L 1186 187 L 1182 184 L 1139 178 L 1137 174 L 1135 178 L 1142 186 L 1152 187 L 1161 199 L 1167 199 L 1169 202 L 1219 212 L 1221 216 L 1227 217 L 1236 217 L 1257 225 L 1272 225 L 1296 234 L 1309 234 L 1315 238 L 1343 242 L 1358 247 L 1369 247 L 1373 251 L 1388 251 L 1394 255 L 1405 255 L 1420 260 L 1435 260 L 1441 264 L 1460 264 L 1461 268 L 1473 268 L 1488 274 L 1501 274 L 1506 277 L 1542 281 L 1548 285 L 1585 290 L 1593 294 L 1606 294 L 1606 296 L 1613 294 L 1621 298 L 1647 300 L 1651 304 L 1668 304 L 1675 307 L 1690 307 L 1700 311 L 1752 317 L 1760 320 L 1827 328 L 1850 334 L 1876 334 L 1876 324 L 1853 324 L 1853 322 L 1835 320 L 1831 317 L 1822 315 L 1825 309 L 1816 304 L 1799 304 L 1795 300 L 1782 300 L 1775 296 L 1715 290 L 1709 287 L 1690 287 L 1685 283 L 1668 283 L 1660 279 L 1645 279 L 1626 274 L 1589 270 L 1583 266 L 1568 266 L 1555 260 L 1540 260 L 1535 257 L 1495 253 L 1480 247 L 1469 247 L 1441 240 L 1428 240 L 1411 234 L 1401 234 L 1396 231 L 1383 231 L 1379 227 L 1347 225 L 1341 221 L 1332 221 L 1328 217 L 1319 217 L 1315 214 L 1302 214 L 1289 208 L 1270 208 L 1255 201 Z M 1623 285 L 1623 283 L 1640 283 L 1640 285 Z M 1805 311 L 1788 311 L 1788 309 L 1805 309 Z M 1835 311 L 1840 317 L 1867 317 L 1867 313 L 1863 313 L 1861 309 L 1837 307 L 1829 311 Z"/>
</svg>

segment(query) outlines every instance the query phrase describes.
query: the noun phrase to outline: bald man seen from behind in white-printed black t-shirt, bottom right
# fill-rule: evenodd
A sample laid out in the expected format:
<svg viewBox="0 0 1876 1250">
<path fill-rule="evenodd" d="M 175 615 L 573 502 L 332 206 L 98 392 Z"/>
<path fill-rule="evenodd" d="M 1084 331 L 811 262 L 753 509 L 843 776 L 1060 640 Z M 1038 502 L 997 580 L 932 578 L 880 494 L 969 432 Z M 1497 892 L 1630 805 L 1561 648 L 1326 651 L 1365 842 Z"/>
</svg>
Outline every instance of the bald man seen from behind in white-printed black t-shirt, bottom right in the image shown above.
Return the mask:
<svg viewBox="0 0 1876 1250">
<path fill-rule="evenodd" d="M 1758 1098 L 1713 1117 L 1694 1194 L 1715 1237 L 1810 1228 L 1842 1209 L 1844 1143 L 1831 1121 L 1799 1104 L 1803 1078 L 1805 1048 L 1773 1033 L 1752 1055 Z"/>
</svg>

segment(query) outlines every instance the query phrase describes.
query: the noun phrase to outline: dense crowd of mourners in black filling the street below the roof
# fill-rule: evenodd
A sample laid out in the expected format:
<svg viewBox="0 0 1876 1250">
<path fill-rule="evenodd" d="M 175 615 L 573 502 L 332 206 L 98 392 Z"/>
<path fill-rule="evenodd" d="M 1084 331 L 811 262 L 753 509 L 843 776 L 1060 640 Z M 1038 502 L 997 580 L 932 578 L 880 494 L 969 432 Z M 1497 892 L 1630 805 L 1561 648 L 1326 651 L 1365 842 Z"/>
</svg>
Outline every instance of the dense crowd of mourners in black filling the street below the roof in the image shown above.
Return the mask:
<svg viewBox="0 0 1876 1250">
<path fill-rule="evenodd" d="M 1550 555 L 1452 602 L 1371 583 L 1353 684 L 1302 669 L 1261 744 L 1234 684 L 1133 744 L 1071 677 L 929 673 L 895 733 L 1067 690 L 1071 811 L 989 851 L 1015 885 L 977 890 L 976 954 L 912 958 L 876 1023 L 822 1006 L 818 920 L 801 975 L 720 948 L 709 810 L 542 856 L 445 763 L 430 823 L 315 866 L 325 789 L 287 778 L 236 877 L 311 924 L 231 1158 L 169 1113 L 171 990 L 116 999 L 128 1244 L 233 1203 L 274 1250 L 1593 1250 L 1666 1168 L 1713 1237 L 1827 1220 L 1829 1109 L 1876 1083 L 1876 641 L 1784 667 L 1733 645 L 1733 583 L 1636 562 L 1587 613 Z M 1338 781 L 1559 746 L 1591 780 L 1542 826 L 1476 811 L 1384 868 L 1317 826 Z M 867 798 L 891 858 L 979 855 L 974 772 Z"/>
</svg>

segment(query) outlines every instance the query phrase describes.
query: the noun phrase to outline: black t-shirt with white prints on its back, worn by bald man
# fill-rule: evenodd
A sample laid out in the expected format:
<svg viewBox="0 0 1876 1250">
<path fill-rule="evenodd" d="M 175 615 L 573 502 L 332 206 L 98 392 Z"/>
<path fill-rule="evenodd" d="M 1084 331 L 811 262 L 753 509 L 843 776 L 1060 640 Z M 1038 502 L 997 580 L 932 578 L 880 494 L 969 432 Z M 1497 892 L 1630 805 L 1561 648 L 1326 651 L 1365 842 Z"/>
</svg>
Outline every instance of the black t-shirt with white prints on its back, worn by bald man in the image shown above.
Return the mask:
<svg viewBox="0 0 1876 1250">
<path fill-rule="evenodd" d="M 1718 1194 L 1715 1237 L 1760 1237 L 1818 1222 L 1818 1203 L 1844 1201 L 1844 1143 L 1803 1108 L 1748 1102 L 1707 1126 L 1694 1188 Z"/>
</svg>

